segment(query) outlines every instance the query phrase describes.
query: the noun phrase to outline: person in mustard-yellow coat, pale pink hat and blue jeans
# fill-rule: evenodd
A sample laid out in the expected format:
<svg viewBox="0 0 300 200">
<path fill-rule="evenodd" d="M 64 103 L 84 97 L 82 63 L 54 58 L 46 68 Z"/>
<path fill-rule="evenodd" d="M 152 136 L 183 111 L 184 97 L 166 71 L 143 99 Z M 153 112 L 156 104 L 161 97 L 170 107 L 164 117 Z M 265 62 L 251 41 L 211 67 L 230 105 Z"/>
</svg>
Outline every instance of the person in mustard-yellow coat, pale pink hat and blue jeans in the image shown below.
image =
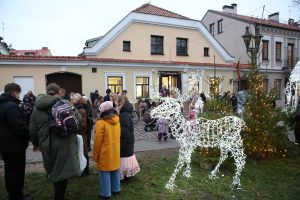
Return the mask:
<svg viewBox="0 0 300 200">
<path fill-rule="evenodd" d="M 100 197 L 106 199 L 121 191 L 120 184 L 120 120 L 111 101 L 100 107 L 96 122 L 93 160 L 100 171 Z"/>
</svg>

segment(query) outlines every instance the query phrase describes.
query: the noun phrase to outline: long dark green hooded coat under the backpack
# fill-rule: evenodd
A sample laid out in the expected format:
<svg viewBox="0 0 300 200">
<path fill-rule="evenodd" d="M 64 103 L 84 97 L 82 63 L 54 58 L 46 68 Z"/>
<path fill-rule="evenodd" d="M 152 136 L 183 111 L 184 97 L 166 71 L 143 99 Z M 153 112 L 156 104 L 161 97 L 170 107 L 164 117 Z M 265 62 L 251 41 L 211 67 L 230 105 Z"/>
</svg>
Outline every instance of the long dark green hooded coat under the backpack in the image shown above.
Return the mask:
<svg viewBox="0 0 300 200">
<path fill-rule="evenodd" d="M 80 176 L 77 136 L 74 134 L 62 137 L 49 134 L 49 112 L 60 98 L 58 95 L 39 95 L 30 118 L 30 139 L 42 152 L 48 178 L 54 182 Z M 71 103 L 69 105 L 73 106 Z M 77 110 L 76 116 L 81 121 Z"/>
</svg>

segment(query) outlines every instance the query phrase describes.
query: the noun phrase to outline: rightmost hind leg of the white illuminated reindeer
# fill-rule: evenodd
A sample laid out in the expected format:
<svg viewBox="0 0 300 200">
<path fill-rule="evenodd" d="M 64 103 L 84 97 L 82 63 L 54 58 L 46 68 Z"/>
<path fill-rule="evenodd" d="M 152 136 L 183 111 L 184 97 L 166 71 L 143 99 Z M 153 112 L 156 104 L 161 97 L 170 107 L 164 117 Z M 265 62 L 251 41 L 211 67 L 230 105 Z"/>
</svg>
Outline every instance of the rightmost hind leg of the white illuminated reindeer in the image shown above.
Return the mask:
<svg viewBox="0 0 300 200">
<path fill-rule="evenodd" d="M 233 146 L 233 150 L 231 151 L 231 153 L 234 158 L 234 164 L 236 166 L 236 172 L 233 176 L 232 188 L 240 189 L 240 187 L 241 187 L 240 175 L 246 164 L 246 161 L 245 161 L 246 154 L 244 154 L 244 149 L 239 144 Z"/>
</svg>

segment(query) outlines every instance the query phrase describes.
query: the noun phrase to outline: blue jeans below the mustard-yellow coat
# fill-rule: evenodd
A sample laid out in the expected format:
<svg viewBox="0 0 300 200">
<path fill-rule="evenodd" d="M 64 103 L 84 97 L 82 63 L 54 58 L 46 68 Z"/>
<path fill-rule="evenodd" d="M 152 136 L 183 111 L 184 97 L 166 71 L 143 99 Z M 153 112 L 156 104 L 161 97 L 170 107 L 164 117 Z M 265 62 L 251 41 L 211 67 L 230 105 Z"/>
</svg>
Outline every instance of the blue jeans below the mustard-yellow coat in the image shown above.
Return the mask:
<svg viewBox="0 0 300 200">
<path fill-rule="evenodd" d="M 111 192 L 120 192 L 120 170 L 116 171 L 99 171 L 100 179 L 100 196 L 110 197 Z"/>
</svg>

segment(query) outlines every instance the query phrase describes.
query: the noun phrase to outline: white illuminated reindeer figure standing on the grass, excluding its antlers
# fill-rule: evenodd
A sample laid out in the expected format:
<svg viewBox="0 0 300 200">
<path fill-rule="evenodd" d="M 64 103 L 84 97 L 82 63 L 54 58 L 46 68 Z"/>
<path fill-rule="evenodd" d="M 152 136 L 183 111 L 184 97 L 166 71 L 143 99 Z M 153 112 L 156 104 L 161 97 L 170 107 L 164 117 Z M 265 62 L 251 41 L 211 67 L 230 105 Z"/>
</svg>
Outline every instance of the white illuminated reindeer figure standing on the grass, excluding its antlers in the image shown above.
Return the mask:
<svg viewBox="0 0 300 200">
<path fill-rule="evenodd" d="M 233 176 L 233 188 L 239 188 L 240 175 L 245 165 L 246 155 L 243 150 L 243 141 L 240 136 L 245 122 L 236 116 L 227 116 L 217 120 L 197 118 L 187 121 L 180 112 L 180 105 L 174 98 L 161 98 L 162 104 L 151 111 L 152 118 L 165 118 L 169 120 L 172 134 L 180 144 L 178 162 L 170 177 L 166 188 L 173 189 L 178 172 L 186 164 L 183 173 L 185 177 L 191 176 L 191 155 L 196 147 L 219 147 L 220 160 L 211 172 L 209 178 L 217 177 L 222 162 L 230 152 L 234 158 L 236 172 Z"/>
</svg>

